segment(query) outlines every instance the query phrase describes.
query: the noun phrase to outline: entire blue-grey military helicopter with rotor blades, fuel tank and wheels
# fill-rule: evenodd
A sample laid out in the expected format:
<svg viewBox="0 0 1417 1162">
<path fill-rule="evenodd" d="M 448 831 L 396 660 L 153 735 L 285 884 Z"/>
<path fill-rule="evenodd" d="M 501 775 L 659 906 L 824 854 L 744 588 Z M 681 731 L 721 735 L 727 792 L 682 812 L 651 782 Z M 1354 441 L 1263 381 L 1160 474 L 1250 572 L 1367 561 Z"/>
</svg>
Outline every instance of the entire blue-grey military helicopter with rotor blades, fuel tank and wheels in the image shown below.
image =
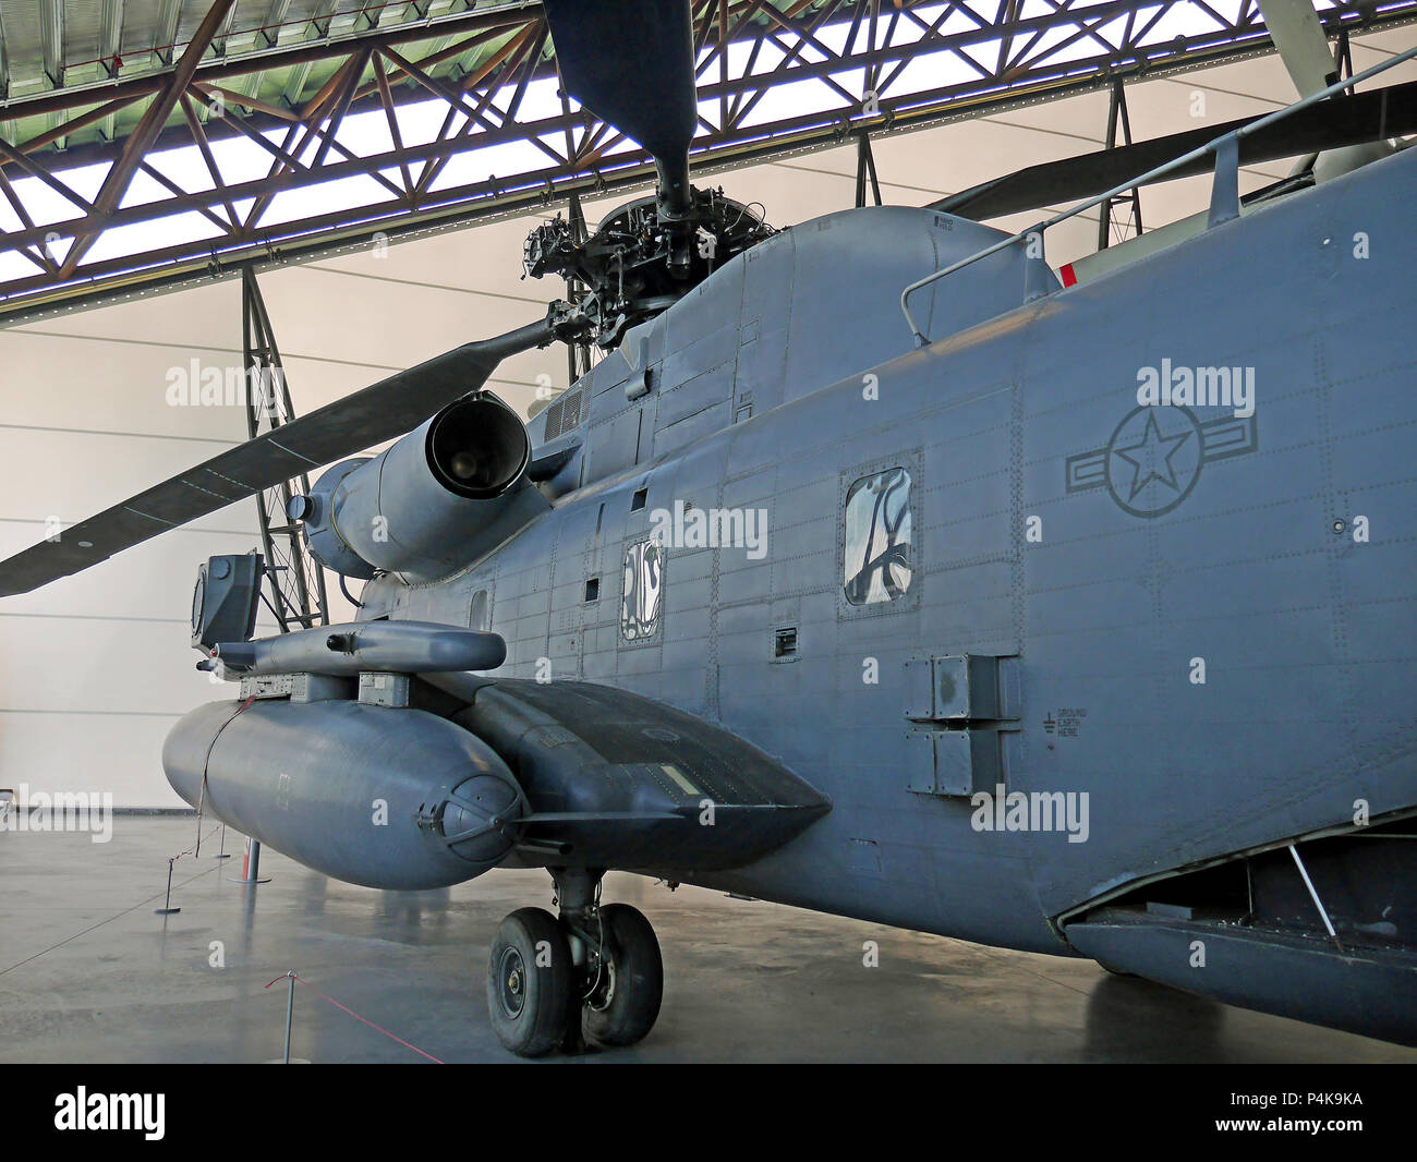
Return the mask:
<svg viewBox="0 0 1417 1162">
<path fill-rule="evenodd" d="M 487 965 L 519 1054 L 655 1023 L 609 869 L 1417 1043 L 1411 86 L 1325 69 L 1200 139 L 772 231 L 689 181 L 687 3 L 547 11 L 565 89 L 657 167 L 587 241 L 529 238 L 585 298 L 82 521 L 0 592 L 333 465 L 290 516 L 366 581 L 359 619 L 252 641 L 262 561 L 207 561 L 193 643 L 239 697 L 163 764 L 351 883 L 547 869 L 558 914 L 510 914 Z M 1305 154 L 1241 201 L 1238 164 Z M 1064 215 L 976 221 L 1207 170 L 1202 220 L 1067 286 Z M 555 340 L 605 354 L 524 424 L 483 384 Z"/>
</svg>

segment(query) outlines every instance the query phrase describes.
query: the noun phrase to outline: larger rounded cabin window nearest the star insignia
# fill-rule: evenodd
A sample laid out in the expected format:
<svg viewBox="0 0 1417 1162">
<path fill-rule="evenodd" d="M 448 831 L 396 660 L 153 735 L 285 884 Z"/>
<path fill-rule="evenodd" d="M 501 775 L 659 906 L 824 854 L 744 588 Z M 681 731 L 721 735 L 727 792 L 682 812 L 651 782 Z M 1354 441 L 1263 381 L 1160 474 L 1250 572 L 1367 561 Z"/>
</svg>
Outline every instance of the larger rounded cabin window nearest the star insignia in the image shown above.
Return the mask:
<svg viewBox="0 0 1417 1162">
<path fill-rule="evenodd" d="M 863 476 L 847 489 L 843 590 L 852 605 L 881 605 L 910 590 L 910 473 L 904 468 Z"/>
</svg>

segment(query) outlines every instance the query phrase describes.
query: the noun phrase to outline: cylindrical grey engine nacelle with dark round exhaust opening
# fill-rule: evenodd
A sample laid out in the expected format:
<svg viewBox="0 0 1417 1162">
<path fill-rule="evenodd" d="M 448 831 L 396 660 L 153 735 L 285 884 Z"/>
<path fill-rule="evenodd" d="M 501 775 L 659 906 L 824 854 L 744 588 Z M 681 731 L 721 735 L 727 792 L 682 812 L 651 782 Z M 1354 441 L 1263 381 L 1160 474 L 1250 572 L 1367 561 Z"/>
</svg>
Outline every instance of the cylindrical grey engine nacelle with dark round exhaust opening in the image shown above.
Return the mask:
<svg viewBox="0 0 1417 1162">
<path fill-rule="evenodd" d="M 550 502 L 527 478 L 531 441 L 489 393 L 458 400 L 395 445 L 334 465 L 290 502 L 310 553 L 346 577 L 435 581 L 478 560 Z"/>
</svg>

